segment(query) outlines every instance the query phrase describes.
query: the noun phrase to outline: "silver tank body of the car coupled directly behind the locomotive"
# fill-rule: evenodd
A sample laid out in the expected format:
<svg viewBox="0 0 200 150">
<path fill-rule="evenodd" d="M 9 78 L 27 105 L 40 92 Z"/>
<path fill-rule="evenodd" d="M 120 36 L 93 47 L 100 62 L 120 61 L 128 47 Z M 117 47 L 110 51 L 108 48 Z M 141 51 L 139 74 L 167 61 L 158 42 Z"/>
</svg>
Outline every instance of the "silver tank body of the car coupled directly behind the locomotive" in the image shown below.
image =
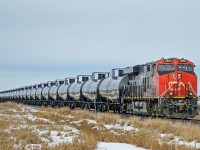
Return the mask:
<svg viewBox="0 0 200 150">
<path fill-rule="evenodd" d="M 99 86 L 99 94 L 110 103 L 118 103 L 120 91 L 123 90 L 124 86 L 128 85 L 128 81 L 128 75 L 112 75 L 101 82 Z"/>
</svg>

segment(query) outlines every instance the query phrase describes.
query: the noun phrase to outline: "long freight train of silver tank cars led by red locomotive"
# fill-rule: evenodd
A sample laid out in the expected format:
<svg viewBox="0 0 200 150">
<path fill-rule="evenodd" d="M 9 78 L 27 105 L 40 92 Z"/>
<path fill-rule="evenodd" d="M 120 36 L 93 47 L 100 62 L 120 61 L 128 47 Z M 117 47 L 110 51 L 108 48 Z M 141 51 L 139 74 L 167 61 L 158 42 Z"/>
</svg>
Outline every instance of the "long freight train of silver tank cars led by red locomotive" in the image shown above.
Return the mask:
<svg viewBox="0 0 200 150">
<path fill-rule="evenodd" d="M 114 111 L 124 114 L 191 118 L 197 112 L 194 63 L 160 59 L 111 72 L 93 72 L 3 91 L 0 101 L 29 105 Z"/>
</svg>

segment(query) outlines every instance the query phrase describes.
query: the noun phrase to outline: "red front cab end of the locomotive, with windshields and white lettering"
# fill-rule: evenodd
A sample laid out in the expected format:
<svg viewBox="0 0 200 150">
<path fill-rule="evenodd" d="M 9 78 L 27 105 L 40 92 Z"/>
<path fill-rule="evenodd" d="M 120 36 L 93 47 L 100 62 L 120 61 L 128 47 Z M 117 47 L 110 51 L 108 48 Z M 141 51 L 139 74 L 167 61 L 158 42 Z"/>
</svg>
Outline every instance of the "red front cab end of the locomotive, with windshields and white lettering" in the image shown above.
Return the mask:
<svg viewBox="0 0 200 150">
<path fill-rule="evenodd" d="M 195 65 L 186 59 L 161 59 L 156 63 L 159 111 L 167 117 L 197 115 L 197 76 Z"/>
</svg>

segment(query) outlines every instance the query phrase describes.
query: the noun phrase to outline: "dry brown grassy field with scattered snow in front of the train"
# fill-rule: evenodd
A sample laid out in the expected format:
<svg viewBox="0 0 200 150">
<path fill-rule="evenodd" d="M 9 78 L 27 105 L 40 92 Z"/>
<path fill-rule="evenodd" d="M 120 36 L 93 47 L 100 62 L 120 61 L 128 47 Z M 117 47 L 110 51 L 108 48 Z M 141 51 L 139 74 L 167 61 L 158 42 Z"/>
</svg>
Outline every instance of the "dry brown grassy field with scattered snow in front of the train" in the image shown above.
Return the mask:
<svg viewBox="0 0 200 150">
<path fill-rule="evenodd" d="M 98 142 L 146 149 L 200 149 L 200 127 L 108 113 L 98 113 L 96 118 L 93 112 L 66 107 L 0 104 L 0 150 L 94 150 Z"/>
</svg>

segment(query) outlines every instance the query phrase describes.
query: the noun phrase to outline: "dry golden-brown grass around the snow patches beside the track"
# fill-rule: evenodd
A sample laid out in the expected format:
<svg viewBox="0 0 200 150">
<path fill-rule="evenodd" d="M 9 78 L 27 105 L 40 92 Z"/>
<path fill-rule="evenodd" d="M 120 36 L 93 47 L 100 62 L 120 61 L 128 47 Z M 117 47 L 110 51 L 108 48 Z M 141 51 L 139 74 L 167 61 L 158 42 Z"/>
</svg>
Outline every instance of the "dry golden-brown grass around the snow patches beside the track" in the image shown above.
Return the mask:
<svg viewBox="0 0 200 150">
<path fill-rule="evenodd" d="M 24 105 L 16 105 L 15 103 L 0 104 L 0 110 L 16 109 L 21 110 L 25 108 Z M 31 113 L 37 118 L 45 118 L 53 123 L 45 122 L 43 120 L 31 121 L 27 118 L 21 120 L 25 121 L 27 128 L 12 130 L 11 133 L 4 132 L 11 125 L 14 126 L 13 120 L 0 120 L 0 149 L 13 149 L 14 144 L 21 144 L 22 149 L 26 144 L 41 144 L 42 149 L 50 150 L 94 150 L 98 142 L 118 142 L 134 144 L 147 149 L 161 149 L 161 150 L 184 150 L 190 149 L 189 147 L 180 145 L 167 145 L 159 144 L 160 134 L 172 134 L 172 136 L 164 137 L 162 142 L 169 142 L 174 139 L 174 136 L 180 136 L 186 141 L 200 141 L 200 127 L 192 124 L 174 123 L 165 119 L 141 119 L 139 117 L 128 117 L 121 119 L 118 114 L 98 113 L 97 118 L 93 112 L 84 110 L 70 110 L 69 108 L 35 108 L 38 112 Z M 6 112 L 5 113 L 9 113 Z M 12 114 L 9 114 L 12 115 Z M 67 115 L 72 115 L 73 118 L 67 118 Z M 86 120 L 82 121 L 80 125 L 71 124 L 71 121 L 79 121 L 83 119 L 96 120 L 96 124 L 88 124 Z M 120 124 L 121 126 L 133 126 L 138 128 L 139 131 L 125 132 L 119 129 L 112 129 L 111 133 L 107 130 L 105 124 Z M 34 132 L 32 126 L 37 127 L 39 130 L 58 131 L 58 136 L 63 131 L 61 125 L 68 125 L 80 131 L 80 136 L 75 138 L 72 143 L 58 144 L 56 147 L 48 147 L 47 143 L 41 142 L 38 134 Z M 93 129 L 94 126 L 101 127 L 103 130 Z M 16 124 L 17 127 L 17 124 Z M 116 134 L 119 133 L 120 135 Z M 70 135 L 71 133 L 69 133 Z M 8 140 L 10 137 L 15 137 Z M 42 137 L 50 139 L 50 132 L 42 134 Z M 6 144 L 5 144 L 6 143 Z"/>
</svg>

